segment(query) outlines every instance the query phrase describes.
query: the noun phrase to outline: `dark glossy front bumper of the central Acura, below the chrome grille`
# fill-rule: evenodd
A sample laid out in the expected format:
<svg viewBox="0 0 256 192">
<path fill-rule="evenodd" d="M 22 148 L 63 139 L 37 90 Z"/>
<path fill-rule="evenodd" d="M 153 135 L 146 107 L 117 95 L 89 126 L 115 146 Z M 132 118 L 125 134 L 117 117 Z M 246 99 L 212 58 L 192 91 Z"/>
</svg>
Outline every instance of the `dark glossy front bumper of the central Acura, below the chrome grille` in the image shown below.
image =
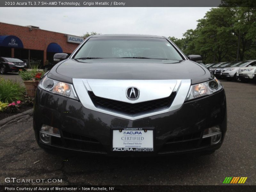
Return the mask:
<svg viewBox="0 0 256 192">
<path fill-rule="evenodd" d="M 51 145 L 39 139 L 42 124 L 60 130 Z M 206 128 L 219 125 L 222 138 L 211 145 L 202 138 Z M 178 110 L 160 115 L 128 120 L 84 108 L 76 100 L 37 88 L 33 126 L 36 141 L 42 148 L 82 151 L 110 156 L 155 156 L 214 150 L 220 148 L 227 129 L 227 109 L 224 90 L 210 96 L 186 102 Z M 112 151 L 112 128 L 154 128 L 153 152 Z M 210 139 L 210 140 L 209 140 Z"/>
</svg>

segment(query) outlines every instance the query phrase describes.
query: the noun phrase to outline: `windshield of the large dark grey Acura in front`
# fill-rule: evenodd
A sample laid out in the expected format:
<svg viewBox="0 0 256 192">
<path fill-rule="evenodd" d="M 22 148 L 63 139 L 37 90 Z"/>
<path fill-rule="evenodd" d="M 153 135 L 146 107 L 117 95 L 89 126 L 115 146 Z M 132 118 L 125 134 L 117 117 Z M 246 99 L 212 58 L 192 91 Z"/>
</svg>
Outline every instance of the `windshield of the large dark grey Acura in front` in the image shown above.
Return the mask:
<svg viewBox="0 0 256 192">
<path fill-rule="evenodd" d="M 183 60 L 166 39 L 148 37 L 90 38 L 74 57 L 74 59 L 98 58 Z"/>
</svg>

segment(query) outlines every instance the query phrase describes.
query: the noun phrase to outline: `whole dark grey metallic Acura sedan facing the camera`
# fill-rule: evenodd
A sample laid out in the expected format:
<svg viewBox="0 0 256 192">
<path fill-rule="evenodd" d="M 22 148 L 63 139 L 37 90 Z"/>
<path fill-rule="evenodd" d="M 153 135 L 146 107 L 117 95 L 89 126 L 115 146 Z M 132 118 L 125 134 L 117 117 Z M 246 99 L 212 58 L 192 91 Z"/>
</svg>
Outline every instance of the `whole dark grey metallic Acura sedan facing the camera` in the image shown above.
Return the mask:
<svg viewBox="0 0 256 192">
<path fill-rule="evenodd" d="M 220 148 L 226 97 L 198 55 L 169 39 L 94 35 L 40 81 L 36 141 L 46 151 L 154 156 Z"/>
</svg>

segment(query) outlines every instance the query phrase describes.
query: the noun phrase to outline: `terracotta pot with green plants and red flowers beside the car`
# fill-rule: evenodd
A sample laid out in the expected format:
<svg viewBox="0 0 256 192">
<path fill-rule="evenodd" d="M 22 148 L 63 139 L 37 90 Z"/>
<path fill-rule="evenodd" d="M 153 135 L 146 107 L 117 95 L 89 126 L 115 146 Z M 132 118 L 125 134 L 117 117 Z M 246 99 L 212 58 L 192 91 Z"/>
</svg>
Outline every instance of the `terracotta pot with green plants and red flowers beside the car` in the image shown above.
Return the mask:
<svg viewBox="0 0 256 192">
<path fill-rule="evenodd" d="M 19 72 L 19 75 L 23 80 L 27 93 L 30 97 L 35 97 L 36 87 L 40 79 L 44 75 L 44 72 L 38 69 L 39 63 L 40 63 L 40 60 L 37 60 L 37 61 L 32 60 L 31 63 L 29 63 L 29 66 L 31 69 L 28 69 L 27 71 Z"/>
</svg>

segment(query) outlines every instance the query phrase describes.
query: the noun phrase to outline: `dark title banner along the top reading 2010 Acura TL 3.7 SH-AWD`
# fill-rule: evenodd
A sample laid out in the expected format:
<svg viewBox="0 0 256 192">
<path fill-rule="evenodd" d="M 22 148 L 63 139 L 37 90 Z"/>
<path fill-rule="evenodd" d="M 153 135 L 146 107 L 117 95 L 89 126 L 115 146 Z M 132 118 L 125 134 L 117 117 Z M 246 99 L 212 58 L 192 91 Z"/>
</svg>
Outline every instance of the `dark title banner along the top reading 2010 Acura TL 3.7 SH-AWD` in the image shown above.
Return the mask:
<svg viewBox="0 0 256 192">
<path fill-rule="evenodd" d="M 256 7 L 255 0 L 1 0 L 0 7 Z"/>
</svg>

